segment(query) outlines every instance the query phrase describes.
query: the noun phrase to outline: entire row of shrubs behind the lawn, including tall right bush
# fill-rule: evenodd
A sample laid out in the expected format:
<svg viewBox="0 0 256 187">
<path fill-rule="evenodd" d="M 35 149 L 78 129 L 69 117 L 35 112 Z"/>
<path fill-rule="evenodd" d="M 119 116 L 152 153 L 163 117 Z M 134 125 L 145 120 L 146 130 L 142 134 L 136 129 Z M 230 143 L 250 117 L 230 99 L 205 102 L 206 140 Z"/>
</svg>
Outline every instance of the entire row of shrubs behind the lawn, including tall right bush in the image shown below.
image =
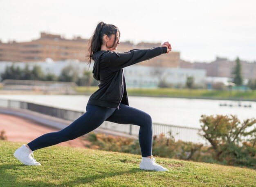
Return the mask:
<svg viewBox="0 0 256 187">
<path fill-rule="evenodd" d="M 201 117 L 203 125 L 198 134 L 206 138 L 210 146 L 175 141 L 170 132 L 168 137 L 165 134 L 153 136 L 152 154 L 164 158 L 256 169 L 256 128 L 248 130 L 256 123 L 256 119 L 247 119 L 241 123 L 233 115 Z M 132 138 L 89 133 L 86 139 L 92 142 L 87 147 L 93 149 L 141 154 L 139 140 Z"/>
</svg>

